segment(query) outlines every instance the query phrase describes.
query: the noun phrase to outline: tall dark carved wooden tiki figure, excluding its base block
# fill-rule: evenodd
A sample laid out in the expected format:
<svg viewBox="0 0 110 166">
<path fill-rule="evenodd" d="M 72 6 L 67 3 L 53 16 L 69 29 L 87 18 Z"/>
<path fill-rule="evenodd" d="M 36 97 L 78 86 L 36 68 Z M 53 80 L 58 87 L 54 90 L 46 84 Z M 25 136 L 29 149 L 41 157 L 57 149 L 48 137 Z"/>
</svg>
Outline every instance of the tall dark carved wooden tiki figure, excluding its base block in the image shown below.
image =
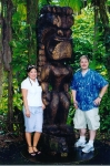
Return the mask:
<svg viewBox="0 0 110 166">
<path fill-rule="evenodd" d="M 72 77 L 69 65 L 72 56 L 72 13 L 69 7 L 46 6 L 38 22 L 38 79 L 46 104 L 44 122 L 49 125 L 63 125 L 68 117 Z"/>
</svg>

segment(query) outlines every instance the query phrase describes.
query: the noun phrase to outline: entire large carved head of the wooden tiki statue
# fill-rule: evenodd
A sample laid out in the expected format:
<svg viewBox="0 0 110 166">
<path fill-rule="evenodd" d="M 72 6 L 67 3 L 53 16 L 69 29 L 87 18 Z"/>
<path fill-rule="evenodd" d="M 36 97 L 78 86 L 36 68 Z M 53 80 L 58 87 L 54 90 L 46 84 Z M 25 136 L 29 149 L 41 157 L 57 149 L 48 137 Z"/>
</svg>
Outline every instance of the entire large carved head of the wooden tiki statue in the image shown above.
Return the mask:
<svg viewBox="0 0 110 166">
<path fill-rule="evenodd" d="M 39 43 L 44 45 L 47 61 L 70 60 L 72 56 L 72 9 L 46 6 L 39 19 Z M 41 58 L 42 59 L 42 58 Z"/>
</svg>

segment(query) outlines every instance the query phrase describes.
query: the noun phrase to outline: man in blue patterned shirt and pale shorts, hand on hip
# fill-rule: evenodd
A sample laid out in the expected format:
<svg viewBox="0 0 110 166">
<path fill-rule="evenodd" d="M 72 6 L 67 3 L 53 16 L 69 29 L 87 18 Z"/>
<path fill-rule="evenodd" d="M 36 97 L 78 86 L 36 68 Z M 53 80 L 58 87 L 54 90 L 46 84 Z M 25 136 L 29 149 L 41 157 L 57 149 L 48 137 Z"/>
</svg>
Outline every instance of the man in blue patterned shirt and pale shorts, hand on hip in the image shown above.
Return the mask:
<svg viewBox="0 0 110 166">
<path fill-rule="evenodd" d="M 74 147 L 83 147 L 83 153 L 94 151 L 93 141 L 96 132 L 100 127 L 99 105 L 108 89 L 108 82 L 96 71 L 89 69 L 87 55 L 80 58 L 80 70 L 73 75 L 71 91 L 76 114 L 74 128 L 79 129 L 80 138 Z M 89 142 L 86 144 L 87 125 L 89 128 Z"/>
</svg>

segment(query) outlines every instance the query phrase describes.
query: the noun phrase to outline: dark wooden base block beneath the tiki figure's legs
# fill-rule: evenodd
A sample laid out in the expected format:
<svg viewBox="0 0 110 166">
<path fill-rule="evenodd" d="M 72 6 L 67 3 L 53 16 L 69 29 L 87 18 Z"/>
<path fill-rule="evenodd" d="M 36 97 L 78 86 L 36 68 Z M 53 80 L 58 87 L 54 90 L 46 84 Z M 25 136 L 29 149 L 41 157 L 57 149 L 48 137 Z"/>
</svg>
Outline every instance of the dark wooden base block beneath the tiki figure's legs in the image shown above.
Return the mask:
<svg viewBox="0 0 110 166">
<path fill-rule="evenodd" d="M 67 157 L 76 142 L 73 127 L 68 125 L 46 125 L 41 135 L 41 151 Z"/>
</svg>

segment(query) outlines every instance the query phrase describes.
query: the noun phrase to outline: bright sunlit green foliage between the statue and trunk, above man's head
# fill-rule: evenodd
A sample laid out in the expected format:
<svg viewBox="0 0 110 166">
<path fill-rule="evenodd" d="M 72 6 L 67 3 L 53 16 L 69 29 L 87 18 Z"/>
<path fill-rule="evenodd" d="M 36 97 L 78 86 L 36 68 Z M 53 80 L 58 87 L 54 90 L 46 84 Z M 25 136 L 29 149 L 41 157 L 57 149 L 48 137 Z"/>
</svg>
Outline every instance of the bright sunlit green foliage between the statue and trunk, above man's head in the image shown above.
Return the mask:
<svg viewBox="0 0 110 166">
<path fill-rule="evenodd" d="M 92 59 L 93 25 L 92 9 L 86 8 L 81 11 L 81 14 L 74 15 L 74 24 L 72 27 L 74 70 L 79 68 L 79 58 L 82 54 L 88 54 Z"/>
</svg>

